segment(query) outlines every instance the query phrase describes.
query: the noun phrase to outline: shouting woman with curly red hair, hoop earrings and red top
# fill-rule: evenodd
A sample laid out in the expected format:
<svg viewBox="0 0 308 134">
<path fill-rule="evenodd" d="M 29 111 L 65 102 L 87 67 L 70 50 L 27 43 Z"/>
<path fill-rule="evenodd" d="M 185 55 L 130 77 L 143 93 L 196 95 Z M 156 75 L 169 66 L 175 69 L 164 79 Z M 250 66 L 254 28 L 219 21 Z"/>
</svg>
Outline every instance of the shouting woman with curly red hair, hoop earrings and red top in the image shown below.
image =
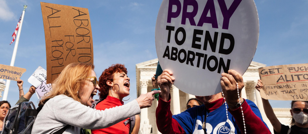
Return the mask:
<svg viewBox="0 0 308 134">
<path fill-rule="evenodd" d="M 122 64 L 111 65 L 109 68 L 105 69 L 102 75 L 99 77 L 99 99 L 103 99 L 99 102 L 95 109 L 105 110 L 116 106 L 121 106 L 124 104 L 123 99 L 129 96 L 130 82 L 127 76 L 127 69 Z M 130 97 L 127 97 L 129 99 Z M 140 117 L 136 115 L 135 125 L 132 130 L 129 123 L 129 118 L 126 118 L 119 123 L 110 126 L 108 128 L 91 130 L 92 134 L 102 134 L 102 133 L 114 133 L 114 134 L 129 134 L 130 131 L 133 134 L 137 134 L 140 127 Z M 127 123 L 124 123 L 127 122 Z"/>
</svg>

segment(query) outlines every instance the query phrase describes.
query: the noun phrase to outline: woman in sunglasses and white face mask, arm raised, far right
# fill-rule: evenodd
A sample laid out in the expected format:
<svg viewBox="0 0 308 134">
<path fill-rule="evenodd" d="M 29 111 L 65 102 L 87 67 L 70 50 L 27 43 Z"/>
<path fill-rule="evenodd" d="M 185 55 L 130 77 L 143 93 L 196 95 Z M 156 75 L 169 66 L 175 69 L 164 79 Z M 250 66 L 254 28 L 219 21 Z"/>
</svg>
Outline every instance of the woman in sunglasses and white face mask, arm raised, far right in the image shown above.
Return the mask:
<svg viewBox="0 0 308 134">
<path fill-rule="evenodd" d="M 260 91 L 263 87 L 261 80 L 258 80 L 256 89 Z M 274 114 L 273 108 L 267 99 L 263 99 L 263 107 L 266 117 L 273 125 L 274 134 L 307 134 L 308 133 L 308 101 L 292 101 L 291 102 L 291 128 L 286 125 L 282 125 Z"/>
</svg>

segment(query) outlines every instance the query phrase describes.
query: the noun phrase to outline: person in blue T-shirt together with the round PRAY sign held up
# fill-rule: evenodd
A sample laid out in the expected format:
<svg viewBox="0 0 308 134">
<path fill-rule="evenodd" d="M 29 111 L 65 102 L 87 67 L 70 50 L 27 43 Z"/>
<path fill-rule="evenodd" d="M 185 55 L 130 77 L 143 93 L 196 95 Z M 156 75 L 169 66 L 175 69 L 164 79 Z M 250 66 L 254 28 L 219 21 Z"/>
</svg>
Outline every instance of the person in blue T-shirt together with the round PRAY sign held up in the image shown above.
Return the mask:
<svg viewBox="0 0 308 134">
<path fill-rule="evenodd" d="M 155 45 L 161 68 L 168 70 L 158 78 L 158 130 L 270 133 L 257 106 L 241 98 L 242 75 L 253 59 L 258 37 L 253 0 L 163 0 Z M 178 89 L 205 105 L 172 116 L 169 92 L 175 78 Z"/>
</svg>

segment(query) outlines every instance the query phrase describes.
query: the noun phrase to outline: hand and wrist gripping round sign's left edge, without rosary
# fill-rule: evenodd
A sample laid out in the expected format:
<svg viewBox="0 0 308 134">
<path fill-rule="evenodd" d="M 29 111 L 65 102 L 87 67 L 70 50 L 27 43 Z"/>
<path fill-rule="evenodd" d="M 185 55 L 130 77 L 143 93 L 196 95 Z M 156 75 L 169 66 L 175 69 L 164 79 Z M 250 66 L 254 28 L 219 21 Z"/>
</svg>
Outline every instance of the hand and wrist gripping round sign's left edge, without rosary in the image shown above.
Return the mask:
<svg viewBox="0 0 308 134">
<path fill-rule="evenodd" d="M 170 99 L 170 88 L 175 80 L 172 74 L 173 73 L 170 70 L 165 69 L 163 73 L 157 78 L 157 83 L 161 90 L 160 98 L 164 101 L 168 101 Z"/>
</svg>

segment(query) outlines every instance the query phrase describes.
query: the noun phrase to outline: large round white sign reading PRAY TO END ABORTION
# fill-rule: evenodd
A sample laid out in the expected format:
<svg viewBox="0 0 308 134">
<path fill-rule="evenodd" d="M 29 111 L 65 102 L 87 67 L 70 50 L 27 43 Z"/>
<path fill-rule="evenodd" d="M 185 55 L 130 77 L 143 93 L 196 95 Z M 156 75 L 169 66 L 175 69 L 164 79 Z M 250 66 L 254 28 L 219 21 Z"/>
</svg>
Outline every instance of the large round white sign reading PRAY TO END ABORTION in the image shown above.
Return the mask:
<svg viewBox="0 0 308 134">
<path fill-rule="evenodd" d="M 162 69 L 181 91 L 198 96 L 221 92 L 221 73 L 241 75 L 252 61 L 259 37 L 253 0 L 163 0 L 155 28 Z"/>
</svg>

